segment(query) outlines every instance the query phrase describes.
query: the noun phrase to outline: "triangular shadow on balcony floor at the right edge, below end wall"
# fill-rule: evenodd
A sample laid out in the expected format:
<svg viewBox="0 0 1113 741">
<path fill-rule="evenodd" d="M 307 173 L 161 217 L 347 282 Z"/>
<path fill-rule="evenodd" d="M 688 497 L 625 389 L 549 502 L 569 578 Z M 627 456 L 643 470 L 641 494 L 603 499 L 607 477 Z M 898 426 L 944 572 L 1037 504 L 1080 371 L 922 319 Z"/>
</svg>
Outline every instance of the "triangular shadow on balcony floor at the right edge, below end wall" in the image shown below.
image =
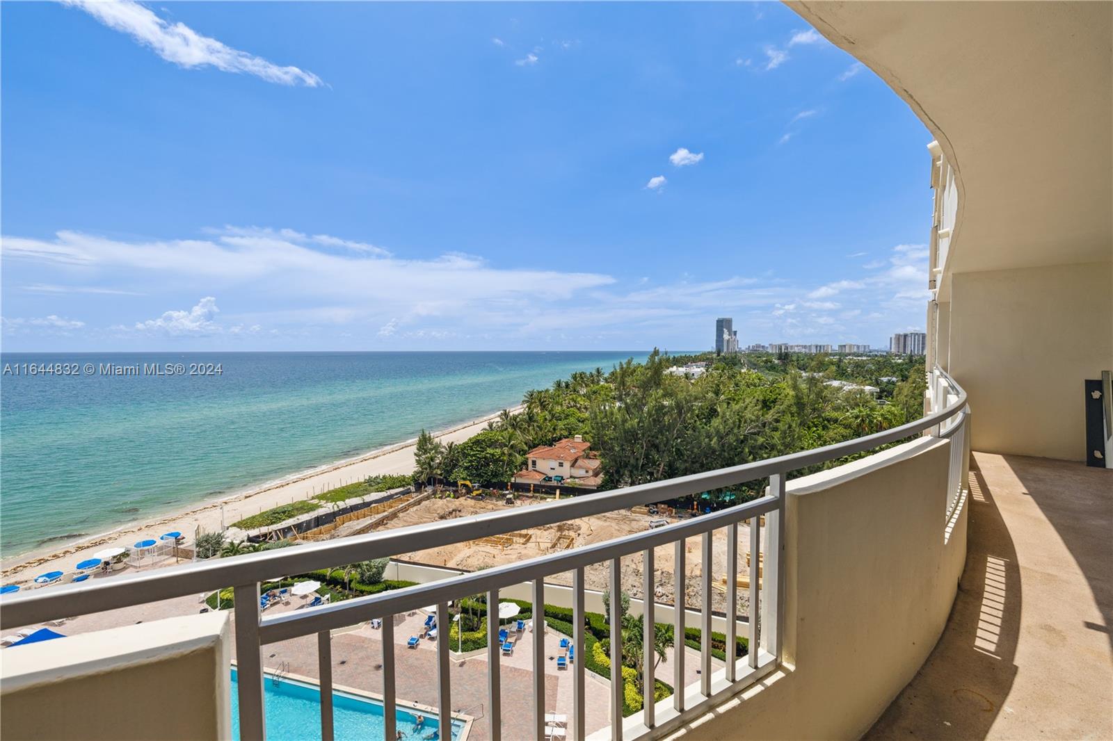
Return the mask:
<svg viewBox="0 0 1113 741">
<path fill-rule="evenodd" d="M 1104 624 L 1084 621 L 1083 625 L 1105 633 L 1113 650 L 1113 471 L 1047 458 L 1003 457 L 1063 540 L 1093 592 Z"/>
</svg>

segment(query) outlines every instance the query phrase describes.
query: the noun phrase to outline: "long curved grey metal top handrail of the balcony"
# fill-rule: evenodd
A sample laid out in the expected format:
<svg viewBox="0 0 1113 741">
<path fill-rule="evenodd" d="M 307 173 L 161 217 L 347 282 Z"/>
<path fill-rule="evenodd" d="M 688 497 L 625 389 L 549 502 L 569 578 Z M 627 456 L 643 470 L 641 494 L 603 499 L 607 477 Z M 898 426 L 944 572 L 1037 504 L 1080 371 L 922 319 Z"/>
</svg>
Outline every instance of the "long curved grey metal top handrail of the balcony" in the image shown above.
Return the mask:
<svg viewBox="0 0 1113 741">
<path fill-rule="evenodd" d="M 441 547 L 491 535 L 551 525 L 578 517 L 627 510 L 642 504 L 652 504 L 702 491 L 767 478 L 776 474 L 785 474 L 846 457 L 910 437 L 962 414 L 966 406 L 966 392 L 938 366 L 935 367 L 934 373 L 940 374 L 958 392 L 957 398 L 952 404 L 914 422 L 865 437 L 775 458 L 639 484 L 613 492 L 572 497 L 539 506 L 515 507 L 508 512 L 456 517 L 432 524 L 299 545 L 293 549 L 252 553 L 234 559 L 220 559 L 214 562 L 151 571 L 146 574 L 120 576 L 102 584 L 96 582 L 72 584 L 52 587 L 46 593 L 17 594 L 4 597 L 3 610 L 0 610 L 0 630 L 42 622 L 62 614 L 102 612 L 186 594 L 211 592 L 238 584 L 263 582 L 277 573 L 294 574 L 331 569 L 337 564 L 388 557 L 415 549 Z M 662 533 L 666 530 L 661 528 Z"/>
</svg>

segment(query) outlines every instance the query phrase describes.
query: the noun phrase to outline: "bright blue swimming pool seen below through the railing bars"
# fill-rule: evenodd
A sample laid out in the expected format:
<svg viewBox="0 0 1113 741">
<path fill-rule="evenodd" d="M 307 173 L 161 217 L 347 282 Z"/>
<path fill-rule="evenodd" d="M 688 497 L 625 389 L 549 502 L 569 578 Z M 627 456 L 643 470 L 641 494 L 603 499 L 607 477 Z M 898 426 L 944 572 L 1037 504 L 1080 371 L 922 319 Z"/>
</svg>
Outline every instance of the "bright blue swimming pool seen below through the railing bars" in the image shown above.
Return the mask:
<svg viewBox="0 0 1113 741">
<path fill-rule="evenodd" d="M 232 670 L 232 738 L 239 739 L 239 692 L 236 670 Z M 321 689 L 298 680 L 285 678 L 275 684 L 267 675 L 264 682 L 267 739 L 274 741 L 305 741 L 321 739 Z M 425 715 L 421 729 L 415 729 L 414 712 L 397 708 L 397 729 L 406 739 L 423 739 L 437 728 L 437 717 Z M 333 735 L 336 741 L 347 739 L 365 741 L 383 738 L 383 703 L 347 692 L 333 692 Z M 452 721 L 453 741 L 459 741 L 464 730 L 463 721 Z"/>
</svg>

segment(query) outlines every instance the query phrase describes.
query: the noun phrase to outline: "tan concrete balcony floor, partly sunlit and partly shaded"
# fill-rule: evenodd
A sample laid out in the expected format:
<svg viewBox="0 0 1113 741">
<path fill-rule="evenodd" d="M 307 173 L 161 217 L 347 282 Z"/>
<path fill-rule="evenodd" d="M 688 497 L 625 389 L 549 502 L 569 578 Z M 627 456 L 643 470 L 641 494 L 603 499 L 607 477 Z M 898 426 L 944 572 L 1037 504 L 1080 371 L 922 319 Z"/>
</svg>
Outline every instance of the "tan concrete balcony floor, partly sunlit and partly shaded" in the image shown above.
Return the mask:
<svg viewBox="0 0 1113 741">
<path fill-rule="evenodd" d="M 974 453 L 947 626 L 867 739 L 1113 738 L 1113 471 Z"/>
</svg>

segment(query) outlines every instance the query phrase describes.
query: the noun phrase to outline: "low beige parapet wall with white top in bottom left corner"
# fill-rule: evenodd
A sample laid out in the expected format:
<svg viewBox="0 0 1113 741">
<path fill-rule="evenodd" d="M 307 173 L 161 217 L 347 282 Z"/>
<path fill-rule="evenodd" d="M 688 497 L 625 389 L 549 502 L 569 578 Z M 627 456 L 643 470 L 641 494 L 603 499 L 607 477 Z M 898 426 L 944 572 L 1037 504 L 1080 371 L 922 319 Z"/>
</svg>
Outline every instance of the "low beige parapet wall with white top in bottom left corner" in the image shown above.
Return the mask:
<svg viewBox="0 0 1113 741">
<path fill-rule="evenodd" d="M 0 737 L 228 739 L 228 625 L 206 613 L 4 649 Z"/>
</svg>

